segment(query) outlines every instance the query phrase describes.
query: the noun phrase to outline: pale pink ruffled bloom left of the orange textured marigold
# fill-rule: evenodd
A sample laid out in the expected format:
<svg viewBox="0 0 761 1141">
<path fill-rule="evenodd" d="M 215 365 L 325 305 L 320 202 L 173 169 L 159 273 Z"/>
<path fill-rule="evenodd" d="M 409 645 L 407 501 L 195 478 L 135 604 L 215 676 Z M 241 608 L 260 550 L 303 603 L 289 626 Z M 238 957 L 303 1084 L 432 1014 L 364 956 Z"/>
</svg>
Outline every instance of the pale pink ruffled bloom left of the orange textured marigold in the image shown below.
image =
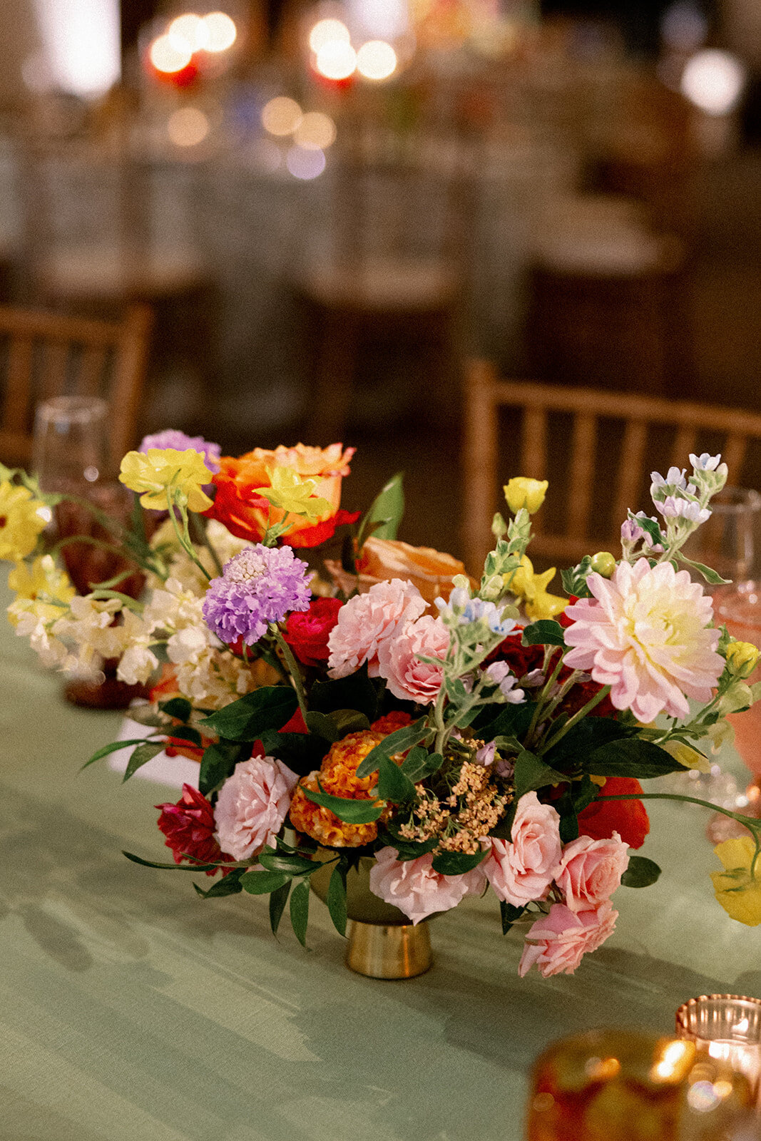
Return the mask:
<svg viewBox="0 0 761 1141">
<path fill-rule="evenodd" d="M 280 832 L 298 783 L 296 772 L 272 756 L 240 761 L 217 800 L 219 843 L 235 859 L 257 856 Z"/>
</svg>

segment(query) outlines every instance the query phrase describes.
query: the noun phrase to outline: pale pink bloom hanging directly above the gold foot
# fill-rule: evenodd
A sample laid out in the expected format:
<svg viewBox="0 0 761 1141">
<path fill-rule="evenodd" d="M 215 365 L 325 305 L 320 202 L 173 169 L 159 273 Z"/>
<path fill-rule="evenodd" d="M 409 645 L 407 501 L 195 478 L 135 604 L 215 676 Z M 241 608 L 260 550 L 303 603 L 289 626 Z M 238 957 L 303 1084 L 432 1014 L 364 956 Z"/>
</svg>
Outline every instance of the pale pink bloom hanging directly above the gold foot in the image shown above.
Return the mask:
<svg viewBox="0 0 761 1141">
<path fill-rule="evenodd" d="M 436 912 L 448 912 L 464 896 L 480 892 L 484 873 L 480 867 L 463 875 L 442 875 L 431 867 L 430 852 L 418 859 L 398 860 L 395 848 L 381 848 L 370 869 L 370 890 L 387 904 L 420 923 Z"/>
</svg>

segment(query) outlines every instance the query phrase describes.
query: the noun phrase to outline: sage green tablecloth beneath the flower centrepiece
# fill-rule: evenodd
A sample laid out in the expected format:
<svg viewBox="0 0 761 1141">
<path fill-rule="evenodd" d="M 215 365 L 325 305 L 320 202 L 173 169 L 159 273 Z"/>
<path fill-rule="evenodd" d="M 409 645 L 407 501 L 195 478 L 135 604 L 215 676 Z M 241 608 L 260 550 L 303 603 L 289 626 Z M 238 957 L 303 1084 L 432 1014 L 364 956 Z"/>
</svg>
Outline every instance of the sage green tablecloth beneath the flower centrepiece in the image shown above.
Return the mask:
<svg viewBox="0 0 761 1141">
<path fill-rule="evenodd" d="M 65 705 L 5 620 L 0 686 L 0 1141 L 518 1141 L 552 1038 L 761 995 L 761 930 L 713 900 L 701 809 L 653 810 L 664 875 L 620 889 L 575 977 L 519 979 L 520 938 L 476 900 L 432 925 L 428 974 L 379 982 L 346 970 L 316 899 L 305 952 L 265 900 L 128 863 L 168 858 L 152 806 L 177 793 L 78 775 L 119 720 Z"/>
</svg>

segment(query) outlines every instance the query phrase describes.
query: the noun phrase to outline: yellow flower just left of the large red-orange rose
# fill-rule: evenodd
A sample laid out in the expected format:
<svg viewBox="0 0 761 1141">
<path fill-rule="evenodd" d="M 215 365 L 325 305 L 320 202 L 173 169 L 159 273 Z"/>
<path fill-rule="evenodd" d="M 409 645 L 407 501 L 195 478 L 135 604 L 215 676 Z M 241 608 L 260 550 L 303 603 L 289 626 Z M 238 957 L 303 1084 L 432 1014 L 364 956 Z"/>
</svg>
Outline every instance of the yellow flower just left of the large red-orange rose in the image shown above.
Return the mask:
<svg viewBox="0 0 761 1141">
<path fill-rule="evenodd" d="M 143 507 L 167 510 L 167 491 L 187 496 L 191 511 L 205 511 L 212 501 L 202 491 L 211 483 L 212 472 L 203 455 L 192 447 L 177 452 L 173 447 L 149 447 L 147 452 L 128 452 L 122 460 L 119 479 L 132 492 L 139 492 Z"/>
</svg>

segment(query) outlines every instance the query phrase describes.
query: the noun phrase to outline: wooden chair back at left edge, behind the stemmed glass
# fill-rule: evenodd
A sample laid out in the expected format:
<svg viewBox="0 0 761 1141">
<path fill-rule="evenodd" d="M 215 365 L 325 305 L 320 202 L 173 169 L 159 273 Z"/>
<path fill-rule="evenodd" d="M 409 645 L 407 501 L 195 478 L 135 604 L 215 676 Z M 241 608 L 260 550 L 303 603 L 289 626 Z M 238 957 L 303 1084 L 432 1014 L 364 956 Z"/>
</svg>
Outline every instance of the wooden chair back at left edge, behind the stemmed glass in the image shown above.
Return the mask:
<svg viewBox="0 0 761 1141">
<path fill-rule="evenodd" d="M 119 323 L 0 306 L 0 460 L 27 464 L 35 404 L 71 393 L 108 399 L 118 463 L 136 443 L 152 319 L 143 305 Z"/>
</svg>

